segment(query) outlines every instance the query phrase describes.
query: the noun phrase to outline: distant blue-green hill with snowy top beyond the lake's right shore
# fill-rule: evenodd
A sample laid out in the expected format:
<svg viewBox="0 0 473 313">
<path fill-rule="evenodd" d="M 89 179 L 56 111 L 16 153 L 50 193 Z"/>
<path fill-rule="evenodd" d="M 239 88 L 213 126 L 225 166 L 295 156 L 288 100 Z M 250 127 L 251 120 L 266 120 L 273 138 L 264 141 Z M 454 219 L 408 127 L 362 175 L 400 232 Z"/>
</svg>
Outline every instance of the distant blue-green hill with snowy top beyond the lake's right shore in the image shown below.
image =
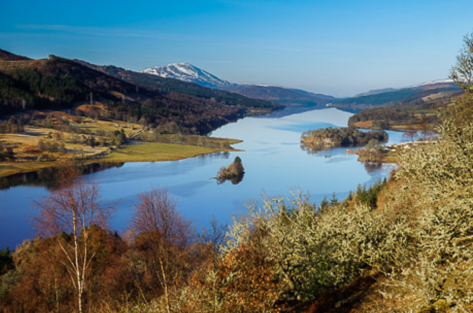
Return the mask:
<svg viewBox="0 0 473 313">
<path fill-rule="evenodd" d="M 365 95 L 358 95 L 331 104 L 336 108 L 360 111 L 377 106 L 410 106 L 415 104 L 426 104 L 432 100 L 441 100 L 461 93 L 451 80 L 440 80 L 410 86 L 403 89 L 395 89 L 375 93 L 371 91 Z"/>
</svg>

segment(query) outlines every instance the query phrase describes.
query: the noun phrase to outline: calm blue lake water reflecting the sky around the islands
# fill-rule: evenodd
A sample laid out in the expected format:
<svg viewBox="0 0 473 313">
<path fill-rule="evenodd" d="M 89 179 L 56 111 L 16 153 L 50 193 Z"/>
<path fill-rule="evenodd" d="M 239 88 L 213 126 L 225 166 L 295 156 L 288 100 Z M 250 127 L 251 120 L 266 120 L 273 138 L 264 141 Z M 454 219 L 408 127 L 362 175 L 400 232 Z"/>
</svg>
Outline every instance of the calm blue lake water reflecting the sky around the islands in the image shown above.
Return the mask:
<svg viewBox="0 0 473 313">
<path fill-rule="evenodd" d="M 164 187 L 177 200 L 181 213 L 197 229 L 206 226 L 212 215 L 230 223 L 232 215 L 246 213 L 245 205 L 267 196 L 288 196 L 291 190 L 309 192 L 320 202 L 336 192 L 346 198 L 358 184 L 371 185 L 389 175 L 393 165 L 365 167 L 357 155 L 343 148 L 307 154 L 300 148 L 300 133 L 327 126 L 346 126 L 351 113 L 335 108 L 309 111 L 285 117 L 247 117 L 212 133 L 214 137 L 242 139 L 234 145 L 241 152 L 217 153 L 192 159 L 166 162 L 126 163 L 120 168 L 85 175 L 100 183 L 104 205 L 113 205 L 111 228 L 127 229 L 133 204 L 140 192 Z M 389 132 L 389 143 L 401 141 L 401 133 Z M 221 185 L 212 179 L 220 167 L 240 156 L 245 176 L 238 185 Z M 44 187 L 13 187 L 0 190 L 0 248 L 14 247 L 34 233 L 28 216 L 34 200 L 47 195 Z"/>
</svg>

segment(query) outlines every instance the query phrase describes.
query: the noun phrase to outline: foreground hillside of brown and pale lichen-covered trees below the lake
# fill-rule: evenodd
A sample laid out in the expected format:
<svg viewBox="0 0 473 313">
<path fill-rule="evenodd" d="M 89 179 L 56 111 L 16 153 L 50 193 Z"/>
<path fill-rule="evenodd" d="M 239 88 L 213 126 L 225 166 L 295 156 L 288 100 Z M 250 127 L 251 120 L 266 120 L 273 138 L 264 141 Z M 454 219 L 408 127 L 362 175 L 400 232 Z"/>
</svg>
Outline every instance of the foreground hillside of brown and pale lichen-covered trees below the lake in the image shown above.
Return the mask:
<svg viewBox="0 0 473 313">
<path fill-rule="evenodd" d="M 472 55 L 473 34 L 452 72 L 465 92 L 439 114 L 437 140 L 341 202 L 268 196 L 197 232 L 151 189 L 119 235 L 99 186 L 66 167 L 35 201 L 38 236 L 0 251 L 0 310 L 473 312 Z"/>
</svg>

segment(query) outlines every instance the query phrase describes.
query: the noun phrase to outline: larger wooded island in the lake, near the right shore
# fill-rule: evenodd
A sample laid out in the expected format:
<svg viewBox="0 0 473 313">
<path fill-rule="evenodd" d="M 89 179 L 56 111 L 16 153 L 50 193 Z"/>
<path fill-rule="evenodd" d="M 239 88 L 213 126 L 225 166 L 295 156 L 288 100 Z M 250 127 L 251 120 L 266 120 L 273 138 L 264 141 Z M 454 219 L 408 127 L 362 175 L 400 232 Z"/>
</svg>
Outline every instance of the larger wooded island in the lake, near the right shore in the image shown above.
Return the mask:
<svg viewBox="0 0 473 313">
<path fill-rule="evenodd" d="M 307 130 L 300 137 L 303 148 L 309 152 L 318 152 L 338 147 L 366 146 L 370 141 L 384 143 L 388 140 L 388 133 L 384 130 L 363 132 L 356 128 L 322 128 Z"/>
</svg>

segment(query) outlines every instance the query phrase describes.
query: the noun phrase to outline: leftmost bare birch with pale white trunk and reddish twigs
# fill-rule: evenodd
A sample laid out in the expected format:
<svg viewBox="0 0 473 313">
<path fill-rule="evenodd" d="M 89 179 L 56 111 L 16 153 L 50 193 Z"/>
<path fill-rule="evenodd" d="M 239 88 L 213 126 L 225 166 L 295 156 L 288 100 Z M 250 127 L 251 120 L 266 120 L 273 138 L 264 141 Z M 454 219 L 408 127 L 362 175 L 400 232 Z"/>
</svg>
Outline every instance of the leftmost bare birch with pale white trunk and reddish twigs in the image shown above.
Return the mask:
<svg viewBox="0 0 473 313">
<path fill-rule="evenodd" d="M 82 313 L 87 273 L 95 255 L 89 251 L 89 227 L 93 224 L 105 227 L 111 208 L 100 205 L 98 185 L 76 178 L 72 167 L 61 175 L 58 189 L 35 202 L 35 207 L 39 209 L 36 229 L 43 237 L 56 235 L 65 255 L 62 264 L 76 291 L 78 312 Z M 62 232 L 69 235 L 70 240 L 58 235 Z"/>
</svg>

